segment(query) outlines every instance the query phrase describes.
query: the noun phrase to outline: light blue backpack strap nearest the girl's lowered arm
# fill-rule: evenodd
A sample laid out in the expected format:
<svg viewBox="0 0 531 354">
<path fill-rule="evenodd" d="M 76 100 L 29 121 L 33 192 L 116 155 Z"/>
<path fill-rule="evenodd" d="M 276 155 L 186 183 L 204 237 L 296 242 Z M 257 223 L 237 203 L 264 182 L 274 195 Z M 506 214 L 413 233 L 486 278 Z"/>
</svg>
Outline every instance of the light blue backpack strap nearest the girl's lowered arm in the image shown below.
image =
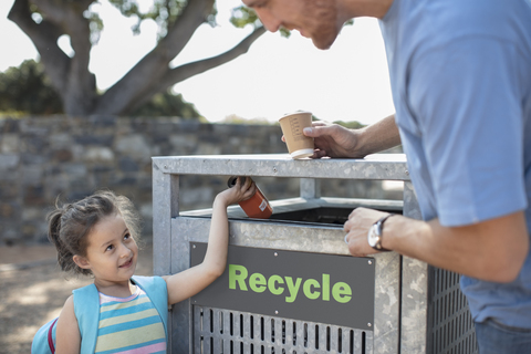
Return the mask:
<svg viewBox="0 0 531 354">
<path fill-rule="evenodd" d="M 100 323 L 100 295 L 97 288 L 90 284 L 72 291 L 74 313 L 81 333 L 81 353 L 94 353 Z"/>
</svg>

